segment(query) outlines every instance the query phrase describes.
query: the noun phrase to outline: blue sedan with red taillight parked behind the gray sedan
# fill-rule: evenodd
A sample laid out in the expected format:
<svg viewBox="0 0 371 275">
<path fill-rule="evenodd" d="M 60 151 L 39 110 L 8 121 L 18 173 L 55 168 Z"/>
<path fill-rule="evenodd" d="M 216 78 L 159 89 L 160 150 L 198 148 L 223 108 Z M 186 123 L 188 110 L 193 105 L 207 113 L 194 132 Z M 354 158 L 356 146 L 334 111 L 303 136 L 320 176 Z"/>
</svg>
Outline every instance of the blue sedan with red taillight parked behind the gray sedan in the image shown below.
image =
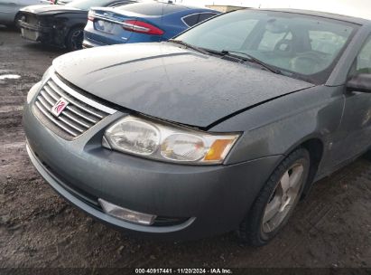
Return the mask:
<svg viewBox="0 0 371 275">
<path fill-rule="evenodd" d="M 156 2 L 92 8 L 83 47 L 161 42 L 217 14 L 206 8 Z"/>
</svg>

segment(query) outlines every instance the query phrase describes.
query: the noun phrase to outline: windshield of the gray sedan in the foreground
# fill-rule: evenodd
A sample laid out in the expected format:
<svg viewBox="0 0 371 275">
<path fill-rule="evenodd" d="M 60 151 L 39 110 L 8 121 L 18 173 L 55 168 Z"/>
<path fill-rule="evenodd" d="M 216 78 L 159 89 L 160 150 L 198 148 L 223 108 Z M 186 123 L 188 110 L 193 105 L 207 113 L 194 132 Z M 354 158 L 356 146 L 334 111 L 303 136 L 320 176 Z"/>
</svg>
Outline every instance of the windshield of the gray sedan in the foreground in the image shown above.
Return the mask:
<svg viewBox="0 0 371 275">
<path fill-rule="evenodd" d="M 176 40 L 212 52 L 249 55 L 313 83 L 329 78 L 357 24 L 278 11 L 242 10 L 199 24 Z"/>
</svg>

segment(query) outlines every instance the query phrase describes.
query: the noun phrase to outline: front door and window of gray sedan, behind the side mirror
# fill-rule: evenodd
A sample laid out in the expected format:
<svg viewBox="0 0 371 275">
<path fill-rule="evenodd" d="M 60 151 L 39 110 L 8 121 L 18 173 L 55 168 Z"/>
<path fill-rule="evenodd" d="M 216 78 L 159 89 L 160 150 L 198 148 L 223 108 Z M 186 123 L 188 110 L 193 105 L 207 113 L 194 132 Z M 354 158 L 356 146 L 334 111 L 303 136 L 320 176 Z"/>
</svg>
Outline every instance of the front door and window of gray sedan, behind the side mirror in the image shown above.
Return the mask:
<svg viewBox="0 0 371 275">
<path fill-rule="evenodd" d="M 359 73 L 371 74 L 371 36 L 366 40 L 349 71 L 349 78 Z M 371 94 L 348 90 L 345 94 L 343 119 L 340 124 L 339 160 L 347 160 L 371 146 Z"/>
</svg>

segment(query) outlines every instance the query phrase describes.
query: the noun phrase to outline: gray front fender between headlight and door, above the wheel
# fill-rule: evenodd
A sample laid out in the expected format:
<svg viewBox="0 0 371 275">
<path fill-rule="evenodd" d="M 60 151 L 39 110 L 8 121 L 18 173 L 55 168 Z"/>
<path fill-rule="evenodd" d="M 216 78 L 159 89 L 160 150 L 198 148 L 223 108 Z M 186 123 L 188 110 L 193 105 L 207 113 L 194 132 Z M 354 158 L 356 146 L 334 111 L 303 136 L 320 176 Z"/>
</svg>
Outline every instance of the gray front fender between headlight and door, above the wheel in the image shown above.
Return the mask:
<svg viewBox="0 0 371 275">
<path fill-rule="evenodd" d="M 248 109 L 210 131 L 244 132 L 227 157 L 227 164 L 285 156 L 311 138 L 320 139 L 326 148 L 339 128 L 343 108 L 341 89 L 317 86 Z"/>
</svg>

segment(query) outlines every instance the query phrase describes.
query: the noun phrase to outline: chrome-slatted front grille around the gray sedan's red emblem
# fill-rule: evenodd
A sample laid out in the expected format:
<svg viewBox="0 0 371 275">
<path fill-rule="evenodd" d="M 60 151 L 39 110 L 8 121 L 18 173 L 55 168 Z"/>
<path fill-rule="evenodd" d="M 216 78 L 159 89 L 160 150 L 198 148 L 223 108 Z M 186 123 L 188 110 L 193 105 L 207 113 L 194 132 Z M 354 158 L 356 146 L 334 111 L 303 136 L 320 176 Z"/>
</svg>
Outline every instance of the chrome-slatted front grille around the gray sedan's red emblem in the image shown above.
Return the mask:
<svg viewBox="0 0 371 275">
<path fill-rule="evenodd" d="M 59 100 L 64 100 L 67 106 L 54 115 L 51 109 Z M 65 139 L 73 139 L 85 133 L 100 120 L 116 112 L 105 105 L 91 100 L 77 90 L 60 80 L 56 74 L 46 81 L 39 91 L 34 106 L 35 115 L 51 128 L 56 134 Z"/>
</svg>

